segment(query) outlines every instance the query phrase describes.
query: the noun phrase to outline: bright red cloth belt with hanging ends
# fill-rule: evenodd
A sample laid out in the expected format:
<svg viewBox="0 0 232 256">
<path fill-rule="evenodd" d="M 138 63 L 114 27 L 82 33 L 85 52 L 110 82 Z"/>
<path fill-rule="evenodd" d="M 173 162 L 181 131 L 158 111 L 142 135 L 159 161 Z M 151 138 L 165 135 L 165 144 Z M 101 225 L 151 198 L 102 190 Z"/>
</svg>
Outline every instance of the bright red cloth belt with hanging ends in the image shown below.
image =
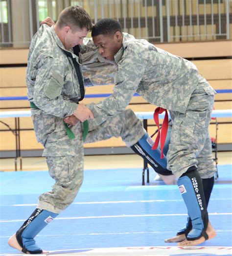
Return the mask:
<svg viewBox="0 0 232 256">
<path fill-rule="evenodd" d="M 159 122 L 159 114 L 162 114 L 163 111 L 165 111 L 165 116 L 162 122 L 162 131 L 160 131 L 160 122 Z M 163 108 L 156 108 L 155 112 L 154 112 L 154 121 L 158 127 L 158 135 L 156 137 L 155 143 L 152 147 L 152 149 L 156 150 L 159 146 L 159 142 L 161 141 L 161 159 L 164 158 L 163 156 L 163 147 L 164 147 L 164 143 L 166 140 L 166 136 L 167 136 L 167 129 L 168 129 L 168 114 L 167 114 L 167 110 L 163 109 Z"/>
</svg>

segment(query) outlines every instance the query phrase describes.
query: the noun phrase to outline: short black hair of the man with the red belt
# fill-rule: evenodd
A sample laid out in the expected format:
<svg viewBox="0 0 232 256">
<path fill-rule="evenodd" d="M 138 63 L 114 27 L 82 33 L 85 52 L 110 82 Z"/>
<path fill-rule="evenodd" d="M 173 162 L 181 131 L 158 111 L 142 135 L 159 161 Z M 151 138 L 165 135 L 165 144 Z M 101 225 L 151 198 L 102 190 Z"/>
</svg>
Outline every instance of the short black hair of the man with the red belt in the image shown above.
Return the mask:
<svg viewBox="0 0 232 256">
<path fill-rule="evenodd" d="M 92 37 L 103 35 L 108 36 L 115 34 L 117 31 L 122 32 L 122 28 L 119 22 L 115 19 L 105 18 L 99 20 L 93 25 L 92 28 Z"/>
</svg>

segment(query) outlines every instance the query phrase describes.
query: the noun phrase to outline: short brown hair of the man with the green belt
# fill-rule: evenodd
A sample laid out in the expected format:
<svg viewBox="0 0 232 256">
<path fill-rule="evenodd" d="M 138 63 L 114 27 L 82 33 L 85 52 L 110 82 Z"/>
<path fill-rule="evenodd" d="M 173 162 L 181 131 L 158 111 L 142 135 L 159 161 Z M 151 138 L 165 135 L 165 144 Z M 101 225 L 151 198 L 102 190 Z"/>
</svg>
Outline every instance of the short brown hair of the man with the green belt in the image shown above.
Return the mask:
<svg viewBox="0 0 232 256">
<path fill-rule="evenodd" d="M 57 26 L 62 28 L 64 26 L 70 26 L 70 28 L 84 27 L 91 31 L 93 27 L 92 19 L 86 10 L 78 5 L 65 8 L 59 15 L 57 20 Z"/>
</svg>

